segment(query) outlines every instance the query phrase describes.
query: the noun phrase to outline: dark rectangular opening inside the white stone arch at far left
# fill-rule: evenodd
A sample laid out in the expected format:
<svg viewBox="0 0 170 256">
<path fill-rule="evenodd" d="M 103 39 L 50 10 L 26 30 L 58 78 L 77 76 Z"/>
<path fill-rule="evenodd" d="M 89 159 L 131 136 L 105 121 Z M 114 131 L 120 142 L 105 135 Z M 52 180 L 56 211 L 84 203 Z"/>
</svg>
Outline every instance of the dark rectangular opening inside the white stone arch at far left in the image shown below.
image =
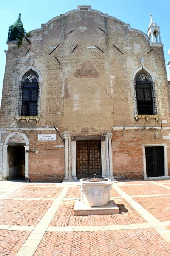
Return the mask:
<svg viewBox="0 0 170 256">
<path fill-rule="evenodd" d="M 25 147 L 8 146 L 9 180 L 25 176 Z"/>
</svg>

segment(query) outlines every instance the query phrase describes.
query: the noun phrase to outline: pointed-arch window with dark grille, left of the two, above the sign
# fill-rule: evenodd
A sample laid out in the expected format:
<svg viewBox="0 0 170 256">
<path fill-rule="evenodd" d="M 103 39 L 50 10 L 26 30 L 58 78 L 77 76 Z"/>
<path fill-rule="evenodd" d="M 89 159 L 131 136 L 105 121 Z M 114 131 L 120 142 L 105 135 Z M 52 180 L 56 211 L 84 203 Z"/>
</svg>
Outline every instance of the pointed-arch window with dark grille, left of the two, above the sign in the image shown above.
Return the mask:
<svg viewBox="0 0 170 256">
<path fill-rule="evenodd" d="M 25 73 L 19 88 L 19 116 L 37 116 L 39 76 L 32 69 Z"/>
</svg>

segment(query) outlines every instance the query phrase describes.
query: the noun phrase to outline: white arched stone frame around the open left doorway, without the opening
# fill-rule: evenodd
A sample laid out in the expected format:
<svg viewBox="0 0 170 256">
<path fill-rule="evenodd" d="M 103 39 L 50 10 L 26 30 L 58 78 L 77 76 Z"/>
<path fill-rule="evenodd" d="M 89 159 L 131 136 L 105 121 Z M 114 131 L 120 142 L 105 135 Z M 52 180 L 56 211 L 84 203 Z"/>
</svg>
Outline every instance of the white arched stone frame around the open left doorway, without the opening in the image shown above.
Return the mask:
<svg viewBox="0 0 170 256">
<path fill-rule="evenodd" d="M 2 146 L 2 180 L 8 180 L 9 177 L 9 156 L 8 156 L 8 140 L 14 136 L 15 134 L 20 135 L 25 140 L 25 180 L 29 180 L 29 174 L 28 174 L 28 150 L 29 150 L 29 140 L 26 137 L 24 133 L 20 132 L 12 132 L 8 134 L 8 136 L 5 139 L 5 142 Z"/>
</svg>

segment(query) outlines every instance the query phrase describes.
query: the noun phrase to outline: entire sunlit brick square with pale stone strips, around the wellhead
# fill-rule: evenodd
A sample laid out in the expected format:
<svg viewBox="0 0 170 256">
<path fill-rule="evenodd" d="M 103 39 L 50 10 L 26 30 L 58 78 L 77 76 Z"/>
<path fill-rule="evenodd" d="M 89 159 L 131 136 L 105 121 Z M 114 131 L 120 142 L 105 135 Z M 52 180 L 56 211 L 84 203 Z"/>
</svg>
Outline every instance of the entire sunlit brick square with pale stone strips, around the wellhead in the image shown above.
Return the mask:
<svg viewBox="0 0 170 256">
<path fill-rule="evenodd" d="M 73 216 L 77 185 L 0 181 L 0 255 L 170 254 L 170 180 L 114 184 L 116 215 Z"/>
</svg>

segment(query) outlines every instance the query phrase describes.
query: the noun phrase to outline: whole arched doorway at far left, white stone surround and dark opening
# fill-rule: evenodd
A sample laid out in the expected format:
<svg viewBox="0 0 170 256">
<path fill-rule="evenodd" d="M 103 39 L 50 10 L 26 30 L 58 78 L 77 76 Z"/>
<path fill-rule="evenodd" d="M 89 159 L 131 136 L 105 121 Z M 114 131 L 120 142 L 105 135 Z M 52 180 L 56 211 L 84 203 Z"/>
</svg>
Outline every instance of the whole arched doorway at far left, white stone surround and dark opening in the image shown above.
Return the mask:
<svg viewBox="0 0 170 256">
<path fill-rule="evenodd" d="M 2 179 L 11 180 L 28 175 L 29 141 L 25 134 L 13 132 L 8 134 L 3 145 Z"/>
</svg>

